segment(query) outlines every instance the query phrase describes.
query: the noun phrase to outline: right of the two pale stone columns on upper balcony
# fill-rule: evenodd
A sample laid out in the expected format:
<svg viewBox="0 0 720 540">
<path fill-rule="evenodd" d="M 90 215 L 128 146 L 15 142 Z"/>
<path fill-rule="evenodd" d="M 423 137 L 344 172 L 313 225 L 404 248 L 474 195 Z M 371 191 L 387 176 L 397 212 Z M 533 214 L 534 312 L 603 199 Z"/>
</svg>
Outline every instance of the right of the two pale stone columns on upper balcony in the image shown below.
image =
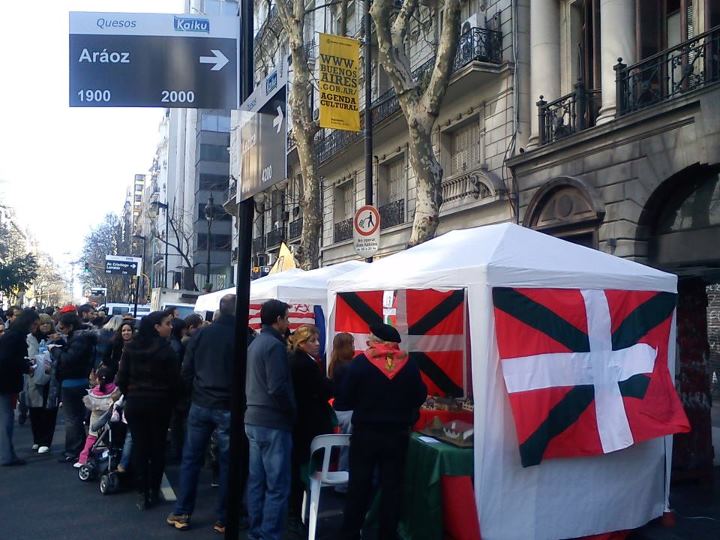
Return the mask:
<svg viewBox="0 0 720 540">
<path fill-rule="evenodd" d="M 613 66 L 618 58 L 630 65 L 635 60 L 635 1 L 600 0 L 600 64 L 602 70 L 602 107 L 597 124 L 615 118 L 616 92 Z"/>
</svg>

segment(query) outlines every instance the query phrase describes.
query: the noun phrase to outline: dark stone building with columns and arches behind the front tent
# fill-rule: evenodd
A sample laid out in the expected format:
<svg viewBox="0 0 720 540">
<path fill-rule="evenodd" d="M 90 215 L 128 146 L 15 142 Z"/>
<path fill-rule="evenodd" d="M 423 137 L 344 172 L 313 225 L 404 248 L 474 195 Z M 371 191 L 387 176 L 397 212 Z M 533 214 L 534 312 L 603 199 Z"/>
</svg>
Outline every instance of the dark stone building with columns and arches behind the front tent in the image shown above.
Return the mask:
<svg viewBox="0 0 720 540">
<path fill-rule="evenodd" d="M 533 0 L 529 22 L 531 137 L 509 160 L 520 222 L 678 274 L 676 376 L 693 432 L 675 437 L 674 461 L 709 474 L 720 2 Z"/>
</svg>

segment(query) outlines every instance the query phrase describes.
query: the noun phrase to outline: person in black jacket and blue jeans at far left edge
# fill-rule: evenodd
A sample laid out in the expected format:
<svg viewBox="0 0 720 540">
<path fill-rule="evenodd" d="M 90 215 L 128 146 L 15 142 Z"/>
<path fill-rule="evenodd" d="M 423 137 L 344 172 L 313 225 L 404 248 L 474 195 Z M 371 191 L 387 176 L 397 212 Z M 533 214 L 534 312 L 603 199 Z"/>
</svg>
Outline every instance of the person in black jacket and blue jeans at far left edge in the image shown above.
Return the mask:
<svg viewBox="0 0 720 540">
<path fill-rule="evenodd" d="M 15 403 L 23 389 L 23 375 L 32 373 L 27 357 L 27 335 L 37 332 L 40 323 L 32 309 L 15 317 L 10 329 L 0 338 L 0 465 L 25 465 L 13 446 Z"/>
</svg>

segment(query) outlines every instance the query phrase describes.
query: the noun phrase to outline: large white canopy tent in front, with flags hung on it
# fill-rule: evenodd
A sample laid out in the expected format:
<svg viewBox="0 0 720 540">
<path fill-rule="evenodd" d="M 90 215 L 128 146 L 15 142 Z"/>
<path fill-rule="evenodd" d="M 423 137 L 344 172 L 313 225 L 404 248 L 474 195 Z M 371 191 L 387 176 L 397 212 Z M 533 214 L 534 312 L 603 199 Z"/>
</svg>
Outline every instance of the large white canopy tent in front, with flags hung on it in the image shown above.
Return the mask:
<svg viewBox="0 0 720 540">
<path fill-rule="evenodd" d="M 637 528 L 667 507 L 672 437 L 523 468 L 495 336 L 492 288 L 677 291 L 677 277 L 514 224 L 457 230 L 330 281 L 339 292 L 465 288 L 475 404 L 475 496 L 485 540 Z M 670 332 L 674 373 L 675 323 Z"/>
</svg>

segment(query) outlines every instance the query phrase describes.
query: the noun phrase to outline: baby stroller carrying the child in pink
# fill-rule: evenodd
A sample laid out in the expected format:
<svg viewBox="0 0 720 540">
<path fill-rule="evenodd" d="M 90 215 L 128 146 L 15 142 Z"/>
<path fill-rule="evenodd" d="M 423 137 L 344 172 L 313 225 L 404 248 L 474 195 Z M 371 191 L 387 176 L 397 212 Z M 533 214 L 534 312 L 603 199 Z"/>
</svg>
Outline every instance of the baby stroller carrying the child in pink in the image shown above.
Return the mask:
<svg viewBox="0 0 720 540">
<path fill-rule="evenodd" d="M 88 482 L 100 478 L 100 493 L 109 495 L 120 489 L 120 473 L 117 471 L 122 456 L 126 427 L 120 420 L 121 408 L 114 403 L 91 426 L 97 440 L 90 449 L 87 463 L 78 469 L 78 478 Z"/>
</svg>

